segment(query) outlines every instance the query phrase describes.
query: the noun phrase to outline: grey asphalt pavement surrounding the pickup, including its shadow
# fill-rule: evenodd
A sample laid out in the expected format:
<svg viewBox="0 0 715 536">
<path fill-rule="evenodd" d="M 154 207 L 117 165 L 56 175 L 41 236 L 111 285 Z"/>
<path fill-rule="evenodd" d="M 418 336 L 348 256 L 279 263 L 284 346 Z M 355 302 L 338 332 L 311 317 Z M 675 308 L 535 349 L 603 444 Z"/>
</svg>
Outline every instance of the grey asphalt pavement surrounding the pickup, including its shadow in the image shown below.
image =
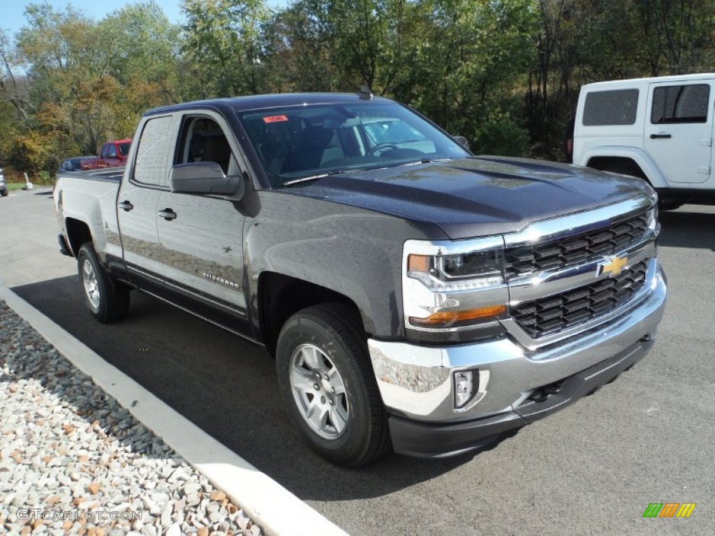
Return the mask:
<svg viewBox="0 0 715 536">
<path fill-rule="evenodd" d="M 46 191 L 0 199 L 0 280 L 352 535 L 712 535 L 715 207 L 661 222 L 670 297 L 646 359 L 490 450 L 388 455 L 362 470 L 302 445 L 261 349 L 138 293 L 123 322 L 94 322 Z M 697 506 L 689 519 L 644 519 L 651 502 Z"/>
</svg>

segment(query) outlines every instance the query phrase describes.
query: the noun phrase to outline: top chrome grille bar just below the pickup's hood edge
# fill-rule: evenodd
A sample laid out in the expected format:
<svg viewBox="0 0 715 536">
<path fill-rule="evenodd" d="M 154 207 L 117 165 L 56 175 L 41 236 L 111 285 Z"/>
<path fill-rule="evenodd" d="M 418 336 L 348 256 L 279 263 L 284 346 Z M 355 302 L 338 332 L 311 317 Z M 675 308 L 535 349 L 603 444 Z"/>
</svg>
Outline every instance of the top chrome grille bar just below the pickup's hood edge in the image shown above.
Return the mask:
<svg viewBox="0 0 715 536">
<path fill-rule="evenodd" d="M 644 212 L 651 206 L 651 200 L 646 197 L 638 199 L 628 199 L 620 203 L 601 207 L 600 209 L 578 212 L 568 216 L 556 217 L 553 219 L 541 220 L 529 224 L 520 232 L 505 234 L 504 243 L 506 247 L 521 246 L 532 242 L 546 242 L 573 234 L 587 232 L 600 227 L 608 227 L 611 219 L 623 219 L 638 212 Z"/>
</svg>

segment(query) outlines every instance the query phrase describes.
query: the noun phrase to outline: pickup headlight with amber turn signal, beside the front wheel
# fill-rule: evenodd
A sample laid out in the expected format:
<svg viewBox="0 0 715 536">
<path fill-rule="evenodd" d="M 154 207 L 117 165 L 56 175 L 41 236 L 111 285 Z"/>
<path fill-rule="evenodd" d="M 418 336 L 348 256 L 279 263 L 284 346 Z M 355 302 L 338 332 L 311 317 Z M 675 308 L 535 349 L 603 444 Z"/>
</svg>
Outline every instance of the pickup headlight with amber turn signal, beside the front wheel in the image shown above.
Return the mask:
<svg viewBox="0 0 715 536">
<path fill-rule="evenodd" d="M 454 332 L 506 315 L 501 237 L 463 242 L 410 240 L 403 252 L 405 327 Z"/>
</svg>

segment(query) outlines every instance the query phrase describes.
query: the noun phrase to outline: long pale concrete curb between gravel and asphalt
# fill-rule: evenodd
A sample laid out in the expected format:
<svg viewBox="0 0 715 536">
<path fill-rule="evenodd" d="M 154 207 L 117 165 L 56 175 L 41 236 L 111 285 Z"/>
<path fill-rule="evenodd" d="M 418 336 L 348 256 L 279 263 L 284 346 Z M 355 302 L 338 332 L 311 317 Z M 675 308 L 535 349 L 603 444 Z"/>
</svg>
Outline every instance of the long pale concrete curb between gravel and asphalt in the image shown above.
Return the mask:
<svg viewBox="0 0 715 536">
<path fill-rule="evenodd" d="M 347 536 L 340 527 L 104 361 L 1 282 L 0 299 L 212 485 L 240 505 L 268 535 Z"/>
</svg>

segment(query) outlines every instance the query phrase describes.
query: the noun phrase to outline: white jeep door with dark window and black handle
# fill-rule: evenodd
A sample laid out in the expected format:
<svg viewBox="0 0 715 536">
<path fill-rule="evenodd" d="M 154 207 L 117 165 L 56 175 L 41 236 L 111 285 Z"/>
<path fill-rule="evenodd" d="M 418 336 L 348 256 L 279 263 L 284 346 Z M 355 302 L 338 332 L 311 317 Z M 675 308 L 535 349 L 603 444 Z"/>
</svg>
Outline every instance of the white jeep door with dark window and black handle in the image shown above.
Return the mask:
<svg viewBox="0 0 715 536">
<path fill-rule="evenodd" d="M 711 174 L 715 81 L 659 82 L 649 88 L 644 146 L 668 182 Z"/>
</svg>

